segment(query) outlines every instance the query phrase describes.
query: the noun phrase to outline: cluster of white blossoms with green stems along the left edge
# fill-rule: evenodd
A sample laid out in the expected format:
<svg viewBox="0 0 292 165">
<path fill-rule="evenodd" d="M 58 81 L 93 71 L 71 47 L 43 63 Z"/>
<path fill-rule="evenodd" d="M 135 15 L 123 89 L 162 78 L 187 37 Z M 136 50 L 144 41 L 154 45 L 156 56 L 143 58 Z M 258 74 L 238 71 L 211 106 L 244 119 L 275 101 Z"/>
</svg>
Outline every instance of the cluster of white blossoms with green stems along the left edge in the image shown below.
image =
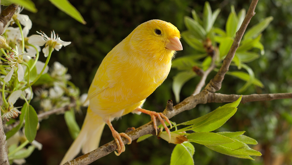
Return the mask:
<svg viewBox="0 0 292 165">
<path fill-rule="evenodd" d="M 59 51 L 62 46 L 67 46 L 71 42 L 62 41 L 55 31 L 51 32 L 50 37 L 42 31 L 28 36 L 32 21 L 27 15 L 20 14 L 21 10 L 21 8 L 16 10 L 0 36 L 0 94 L 2 95 L 0 98 L 3 102 L 0 106 L 1 120 L 9 121 L 21 114 L 22 106 L 15 106 L 19 105 L 18 99 L 25 100 L 25 104 L 30 107 L 32 100 L 39 101 L 40 108 L 37 109 L 43 111 L 67 106 L 74 100 L 79 109 L 81 105 L 84 105 L 87 94 L 79 96 L 79 89 L 69 82 L 71 75 L 67 74 L 67 68 L 62 64 L 55 62 L 52 69 L 48 67 L 52 52 Z M 12 24 L 18 27 L 12 27 Z M 44 46 L 42 52 L 47 57 L 46 62 L 38 60 L 41 46 Z M 35 95 L 31 87 L 34 84 L 41 86 L 34 91 Z M 22 126 L 23 123 L 19 125 Z M 34 148 L 40 150 L 42 147 L 40 143 L 33 140 L 27 148 L 25 145 L 20 148 L 20 141 L 22 144 L 24 144 L 23 141 L 29 143 L 24 134 L 24 128 L 6 141 L 9 153 L 19 154 L 24 153 L 23 151 L 31 153 Z M 24 158 L 30 155 L 24 154 L 23 157 L 18 155 L 16 159 L 13 154 L 10 156 L 8 154 L 8 157 L 16 164 L 25 163 Z"/>
</svg>

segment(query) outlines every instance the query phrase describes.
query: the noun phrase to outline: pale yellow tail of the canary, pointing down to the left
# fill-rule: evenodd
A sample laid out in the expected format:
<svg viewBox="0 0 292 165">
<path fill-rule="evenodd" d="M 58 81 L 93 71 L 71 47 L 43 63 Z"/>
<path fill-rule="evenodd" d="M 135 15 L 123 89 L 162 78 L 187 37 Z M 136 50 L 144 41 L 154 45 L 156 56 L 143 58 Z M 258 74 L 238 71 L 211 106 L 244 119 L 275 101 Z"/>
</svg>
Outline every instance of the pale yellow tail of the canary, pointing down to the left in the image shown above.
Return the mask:
<svg viewBox="0 0 292 165">
<path fill-rule="evenodd" d="M 69 150 L 66 152 L 60 165 L 72 160 L 74 157 L 76 157 L 76 155 L 79 154 L 80 150 L 82 150 L 82 153 L 84 154 L 95 150 L 99 145 L 100 137 L 104 127 L 105 122 L 102 120 L 102 118 L 92 112 L 88 106 L 86 117 L 84 119 L 80 133 L 70 146 Z"/>
</svg>

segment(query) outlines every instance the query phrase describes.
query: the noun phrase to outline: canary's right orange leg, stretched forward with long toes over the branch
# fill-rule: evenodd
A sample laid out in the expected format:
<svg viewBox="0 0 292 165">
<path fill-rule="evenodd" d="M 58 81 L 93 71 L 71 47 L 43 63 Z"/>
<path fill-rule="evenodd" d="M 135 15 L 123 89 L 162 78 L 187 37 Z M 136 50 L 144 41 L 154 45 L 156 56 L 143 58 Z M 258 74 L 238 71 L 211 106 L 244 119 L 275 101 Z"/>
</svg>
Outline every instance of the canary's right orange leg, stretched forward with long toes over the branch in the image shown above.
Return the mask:
<svg viewBox="0 0 292 165">
<path fill-rule="evenodd" d="M 168 120 L 168 118 L 164 114 L 162 114 L 161 112 L 158 113 L 158 112 L 154 112 L 154 111 L 150 111 L 150 110 L 146 110 L 146 109 L 142 109 L 142 108 L 138 108 L 137 110 L 151 116 L 151 120 L 153 120 L 153 127 L 156 131 L 156 135 L 157 135 L 156 117 L 158 117 L 158 119 L 161 122 L 161 124 L 163 125 L 165 131 L 169 135 L 169 141 L 171 140 L 170 131 L 169 131 L 168 127 L 166 126 L 164 120 L 170 125 L 171 128 L 172 128 L 172 125 L 171 125 L 171 122 Z"/>
</svg>

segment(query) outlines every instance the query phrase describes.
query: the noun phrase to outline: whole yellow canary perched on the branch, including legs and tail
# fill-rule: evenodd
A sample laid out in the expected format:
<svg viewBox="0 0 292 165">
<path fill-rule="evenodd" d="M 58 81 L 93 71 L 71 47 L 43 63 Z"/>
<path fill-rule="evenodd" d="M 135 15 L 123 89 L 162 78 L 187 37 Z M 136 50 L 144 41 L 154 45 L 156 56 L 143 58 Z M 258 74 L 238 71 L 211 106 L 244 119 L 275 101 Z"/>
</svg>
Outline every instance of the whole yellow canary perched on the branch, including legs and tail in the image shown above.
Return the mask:
<svg viewBox="0 0 292 165">
<path fill-rule="evenodd" d="M 156 117 L 166 127 L 170 121 L 162 113 L 142 109 L 145 99 L 167 78 L 171 60 L 176 51 L 183 50 L 180 32 L 173 24 L 162 20 L 150 20 L 136 27 L 116 45 L 102 60 L 89 87 L 89 106 L 79 135 L 74 140 L 60 164 L 79 154 L 98 148 L 102 131 L 107 124 L 117 143 L 116 155 L 125 151 L 121 137 L 111 124 L 115 118 L 128 113 L 146 113 L 154 121 Z M 163 120 L 164 119 L 164 120 Z"/>
</svg>

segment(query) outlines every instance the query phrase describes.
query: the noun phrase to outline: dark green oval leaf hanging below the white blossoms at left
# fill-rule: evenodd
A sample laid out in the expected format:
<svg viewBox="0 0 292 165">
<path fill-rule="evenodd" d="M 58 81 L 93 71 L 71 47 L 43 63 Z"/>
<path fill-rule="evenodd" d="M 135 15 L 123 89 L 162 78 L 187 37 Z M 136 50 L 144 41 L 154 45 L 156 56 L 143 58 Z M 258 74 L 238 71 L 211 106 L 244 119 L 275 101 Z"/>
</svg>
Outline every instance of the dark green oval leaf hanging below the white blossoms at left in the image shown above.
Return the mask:
<svg viewBox="0 0 292 165">
<path fill-rule="evenodd" d="M 27 113 L 25 114 L 25 136 L 29 142 L 32 142 L 36 137 L 36 127 L 39 120 L 36 111 L 29 105 Z"/>
</svg>

